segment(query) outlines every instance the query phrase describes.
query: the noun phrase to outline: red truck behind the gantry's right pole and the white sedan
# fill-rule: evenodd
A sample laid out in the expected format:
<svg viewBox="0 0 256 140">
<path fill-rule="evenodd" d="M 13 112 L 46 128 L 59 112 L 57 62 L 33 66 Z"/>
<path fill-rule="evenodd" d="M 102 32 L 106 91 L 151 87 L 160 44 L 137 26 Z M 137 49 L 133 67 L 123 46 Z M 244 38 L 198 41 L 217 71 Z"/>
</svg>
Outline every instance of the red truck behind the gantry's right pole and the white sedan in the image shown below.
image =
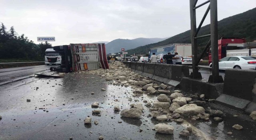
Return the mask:
<svg viewBox="0 0 256 140">
<path fill-rule="evenodd" d="M 245 43 L 244 38 L 236 38 L 236 37 L 222 37 L 218 40 L 218 58 L 224 58 L 227 56 L 227 50 L 240 50 L 244 46 Z M 211 47 L 208 49 L 208 60 L 209 64 L 212 62 L 212 54 Z"/>
</svg>

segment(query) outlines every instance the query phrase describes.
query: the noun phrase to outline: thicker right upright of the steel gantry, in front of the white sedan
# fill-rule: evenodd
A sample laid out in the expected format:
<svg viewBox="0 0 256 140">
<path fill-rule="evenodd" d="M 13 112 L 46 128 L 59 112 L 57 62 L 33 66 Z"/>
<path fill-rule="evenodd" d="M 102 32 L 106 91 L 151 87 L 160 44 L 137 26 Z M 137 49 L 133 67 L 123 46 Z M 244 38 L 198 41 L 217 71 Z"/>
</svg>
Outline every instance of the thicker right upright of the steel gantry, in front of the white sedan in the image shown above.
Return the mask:
<svg viewBox="0 0 256 140">
<path fill-rule="evenodd" d="M 223 82 L 222 76 L 219 75 L 218 59 L 218 16 L 217 0 L 210 0 L 210 30 L 211 30 L 211 47 L 212 47 L 212 75 L 208 82 Z"/>
</svg>

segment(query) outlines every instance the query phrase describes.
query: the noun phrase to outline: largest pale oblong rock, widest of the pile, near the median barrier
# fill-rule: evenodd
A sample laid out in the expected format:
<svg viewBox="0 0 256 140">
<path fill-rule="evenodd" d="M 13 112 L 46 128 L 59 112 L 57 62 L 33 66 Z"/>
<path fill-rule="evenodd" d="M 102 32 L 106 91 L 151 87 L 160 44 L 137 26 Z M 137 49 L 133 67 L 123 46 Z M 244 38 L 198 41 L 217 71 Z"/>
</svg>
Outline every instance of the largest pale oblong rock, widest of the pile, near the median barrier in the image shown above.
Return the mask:
<svg viewBox="0 0 256 140">
<path fill-rule="evenodd" d="M 194 116 L 199 113 L 204 114 L 204 108 L 201 106 L 197 106 L 196 104 L 186 104 L 180 108 L 174 110 L 173 113 L 178 113 L 182 116 Z"/>
</svg>

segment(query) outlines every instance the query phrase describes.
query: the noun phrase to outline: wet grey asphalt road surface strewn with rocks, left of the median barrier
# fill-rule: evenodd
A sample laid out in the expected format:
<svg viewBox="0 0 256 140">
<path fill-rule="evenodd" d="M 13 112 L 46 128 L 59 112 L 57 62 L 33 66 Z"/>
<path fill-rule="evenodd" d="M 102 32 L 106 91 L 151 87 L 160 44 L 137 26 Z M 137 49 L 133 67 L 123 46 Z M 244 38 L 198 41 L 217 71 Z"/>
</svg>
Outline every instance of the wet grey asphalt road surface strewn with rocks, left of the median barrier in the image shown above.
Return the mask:
<svg viewBox="0 0 256 140">
<path fill-rule="evenodd" d="M 31 99 L 31 102 L 26 102 L 26 99 Z M 0 86 L 0 140 L 68 140 L 71 136 L 74 140 L 97 140 L 101 135 L 104 140 L 200 140 L 200 136 L 213 140 L 256 139 L 255 121 L 247 115 L 212 103 L 205 108 L 220 109 L 227 116 L 222 122 L 214 122 L 212 117 L 209 122 L 184 118 L 200 134 L 191 134 L 188 138 L 178 135 L 186 123 L 164 121 L 174 126 L 173 135 L 152 130 L 155 124 L 162 122 L 147 117 L 150 112 L 146 106 L 141 119 L 120 117 L 113 109 L 115 105 L 122 110 L 130 108 L 131 103 L 146 104 L 142 102 L 144 99 L 155 101 L 156 96 L 143 94 L 133 97 L 130 86 L 114 86 L 96 75 L 72 73 L 64 78 L 26 78 Z M 92 114 L 93 102 L 100 103 L 98 109 L 102 110 L 101 116 Z M 233 117 L 234 114 L 238 117 Z M 84 125 L 86 116 L 92 118 L 91 125 Z M 98 125 L 94 124 L 95 120 L 99 121 Z M 244 129 L 234 130 L 234 124 L 240 124 Z M 226 134 L 229 131 L 233 132 L 233 137 Z"/>
</svg>

